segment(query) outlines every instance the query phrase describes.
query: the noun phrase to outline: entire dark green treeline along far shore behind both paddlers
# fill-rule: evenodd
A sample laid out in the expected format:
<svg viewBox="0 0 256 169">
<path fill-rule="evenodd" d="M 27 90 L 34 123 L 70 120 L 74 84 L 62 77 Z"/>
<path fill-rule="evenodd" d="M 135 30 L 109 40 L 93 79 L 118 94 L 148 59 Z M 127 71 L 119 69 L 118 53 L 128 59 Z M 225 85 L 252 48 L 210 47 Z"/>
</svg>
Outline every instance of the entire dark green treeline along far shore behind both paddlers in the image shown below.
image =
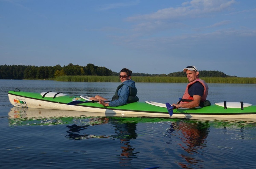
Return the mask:
<svg viewBox="0 0 256 169">
<path fill-rule="evenodd" d="M 59 76 L 118 76 L 119 72 L 112 72 L 106 67 L 95 66 L 88 63 L 86 66 L 25 66 L 25 65 L 0 65 L 0 79 L 53 79 Z M 237 77 L 229 76 L 219 71 L 200 71 L 200 77 Z M 160 77 L 186 77 L 184 72 L 169 74 L 133 73 L 132 76 L 160 76 Z"/>
</svg>

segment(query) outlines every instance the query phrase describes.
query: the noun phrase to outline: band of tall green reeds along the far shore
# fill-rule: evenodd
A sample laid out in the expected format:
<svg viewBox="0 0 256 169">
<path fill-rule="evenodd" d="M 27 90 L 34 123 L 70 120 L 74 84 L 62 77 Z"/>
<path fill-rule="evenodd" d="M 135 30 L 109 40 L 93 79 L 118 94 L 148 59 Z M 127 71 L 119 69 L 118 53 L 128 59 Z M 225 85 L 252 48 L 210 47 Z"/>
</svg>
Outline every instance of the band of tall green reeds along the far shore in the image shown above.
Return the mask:
<svg viewBox="0 0 256 169">
<path fill-rule="evenodd" d="M 254 77 L 202 77 L 207 83 L 244 83 L 256 84 Z M 80 81 L 80 82 L 120 82 L 118 76 L 59 76 L 56 81 Z M 136 82 L 150 83 L 187 83 L 187 77 L 162 77 L 162 76 L 132 76 Z"/>
</svg>

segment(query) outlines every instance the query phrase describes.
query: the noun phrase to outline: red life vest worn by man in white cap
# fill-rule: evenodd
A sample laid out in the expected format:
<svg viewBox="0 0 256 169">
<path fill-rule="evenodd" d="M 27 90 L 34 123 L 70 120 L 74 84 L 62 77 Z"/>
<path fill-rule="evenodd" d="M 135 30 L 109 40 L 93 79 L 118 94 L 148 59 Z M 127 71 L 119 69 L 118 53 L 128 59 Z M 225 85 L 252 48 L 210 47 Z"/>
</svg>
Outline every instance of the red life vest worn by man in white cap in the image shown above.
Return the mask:
<svg viewBox="0 0 256 169">
<path fill-rule="evenodd" d="M 203 95 L 202 95 L 202 98 L 201 98 L 201 102 L 206 101 L 206 97 L 207 97 L 207 95 L 208 95 L 208 89 L 209 89 L 209 88 L 208 88 L 208 85 L 205 83 L 204 80 L 198 78 L 198 79 L 196 79 L 196 80 L 194 80 L 194 81 L 188 83 L 187 88 L 186 88 L 186 90 L 185 90 L 185 92 L 184 92 L 184 94 L 183 94 L 183 96 L 182 96 L 182 99 L 181 99 L 181 101 L 180 101 L 178 104 L 188 103 L 188 102 L 191 102 L 191 101 L 194 100 L 194 98 L 188 94 L 188 88 L 189 88 L 192 84 L 194 84 L 195 82 L 197 82 L 197 81 L 199 81 L 199 82 L 203 85 L 203 87 L 204 87 L 204 91 L 203 91 Z"/>
</svg>

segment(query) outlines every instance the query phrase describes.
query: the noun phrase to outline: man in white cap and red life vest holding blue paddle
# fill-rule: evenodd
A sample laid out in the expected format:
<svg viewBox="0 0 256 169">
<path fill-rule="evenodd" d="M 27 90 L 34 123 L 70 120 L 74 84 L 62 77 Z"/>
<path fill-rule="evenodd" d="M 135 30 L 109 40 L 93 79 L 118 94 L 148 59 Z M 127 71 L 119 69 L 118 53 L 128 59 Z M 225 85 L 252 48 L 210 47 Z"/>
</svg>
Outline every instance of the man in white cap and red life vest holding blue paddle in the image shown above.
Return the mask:
<svg viewBox="0 0 256 169">
<path fill-rule="evenodd" d="M 187 74 L 188 85 L 182 99 L 177 104 L 172 104 L 176 108 L 195 108 L 198 106 L 209 106 L 211 103 L 206 100 L 208 86 L 204 80 L 199 79 L 199 72 L 196 66 L 187 66 L 183 69 Z"/>
</svg>

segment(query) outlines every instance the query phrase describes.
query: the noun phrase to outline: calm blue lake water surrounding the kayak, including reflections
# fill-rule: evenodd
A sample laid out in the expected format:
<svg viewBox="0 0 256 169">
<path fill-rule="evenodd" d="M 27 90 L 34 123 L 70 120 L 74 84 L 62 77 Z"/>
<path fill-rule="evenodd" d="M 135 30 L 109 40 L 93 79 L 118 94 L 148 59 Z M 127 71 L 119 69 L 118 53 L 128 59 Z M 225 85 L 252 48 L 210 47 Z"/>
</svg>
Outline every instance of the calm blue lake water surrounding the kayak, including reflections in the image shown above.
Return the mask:
<svg viewBox="0 0 256 169">
<path fill-rule="evenodd" d="M 0 168 L 255 168 L 255 120 L 80 116 L 13 107 L 8 91 L 111 98 L 119 83 L 0 80 Z M 140 101 L 174 103 L 186 83 L 136 83 Z M 256 104 L 255 84 L 209 84 L 211 103 Z M 72 117 L 70 117 L 72 114 Z"/>
</svg>

